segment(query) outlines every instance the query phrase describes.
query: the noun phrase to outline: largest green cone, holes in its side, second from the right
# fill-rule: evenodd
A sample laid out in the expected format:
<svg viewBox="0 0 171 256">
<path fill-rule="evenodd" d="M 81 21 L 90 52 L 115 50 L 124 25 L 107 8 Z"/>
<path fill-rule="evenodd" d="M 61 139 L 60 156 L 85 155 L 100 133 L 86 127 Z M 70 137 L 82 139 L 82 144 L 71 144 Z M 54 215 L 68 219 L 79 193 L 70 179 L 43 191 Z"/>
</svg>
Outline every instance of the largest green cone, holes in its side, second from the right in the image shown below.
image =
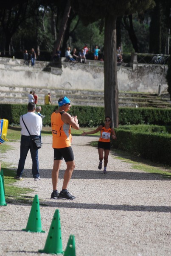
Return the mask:
<svg viewBox="0 0 171 256">
<path fill-rule="evenodd" d="M 55 210 L 45 247 L 39 253 L 63 254 L 59 209 Z"/>
</svg>

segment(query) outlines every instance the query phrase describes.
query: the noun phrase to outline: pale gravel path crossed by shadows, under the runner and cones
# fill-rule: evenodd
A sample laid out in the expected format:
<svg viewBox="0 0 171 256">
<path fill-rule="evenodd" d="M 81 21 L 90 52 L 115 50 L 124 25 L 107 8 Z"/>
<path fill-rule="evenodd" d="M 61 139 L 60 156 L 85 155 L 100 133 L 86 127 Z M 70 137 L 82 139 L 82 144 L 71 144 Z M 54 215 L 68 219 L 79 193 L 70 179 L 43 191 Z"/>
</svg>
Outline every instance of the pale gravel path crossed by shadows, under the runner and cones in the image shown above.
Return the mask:
<svg viewBox="0 0 171 256">
<path fill-rule="evenodd" d="M 16 186 L 34 189 L 38 195 L 42 229 L 46 233 L 23 232 L 31 205 L 0 207 L 0 255 L 41 255 L 55 209 L 61 218 L 62 245 L 75 236 L 77 256 L 169 256 L 171 255 L 171 183 L 161 175 L 132 169 L 132 164 L 109 154 L 107 175 L 99 171 L 98 151 L 89 146 L 97 137 L 73 137 L 76 168 L 68 190 L 74 201 L 50 199 L 53 149 L 51 137 L 43 137 L 39 150 L 41 180 L 31 175 L 31 157 L 25 162 L 24 179 Z M 7 142 L 6 142 L 7 143 Z M 1 154 L 1 161 L 17 168 L 20 142 L 8 142 L 14 150 Z M 62 188 L 65 163 L 59 173 Z M 48 255 L 48 254 L 47 254 Z"/>
</svg>

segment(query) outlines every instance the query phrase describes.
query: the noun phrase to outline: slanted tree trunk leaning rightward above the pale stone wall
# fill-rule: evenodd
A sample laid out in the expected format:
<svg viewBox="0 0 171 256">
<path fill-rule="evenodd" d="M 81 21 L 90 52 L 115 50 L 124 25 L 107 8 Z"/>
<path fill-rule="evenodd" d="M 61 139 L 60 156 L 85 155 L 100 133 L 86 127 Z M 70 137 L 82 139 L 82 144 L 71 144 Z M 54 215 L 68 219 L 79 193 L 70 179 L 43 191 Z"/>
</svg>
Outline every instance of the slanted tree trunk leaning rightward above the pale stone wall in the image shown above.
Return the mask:
<svg viewBox="0 0 171 256">
<path fill-rule="evenodd" d="M 66 7 L 65 7 L 65 10 L 64 10 L 64 15 L 62 17 L 62 21 L 60 23 L 59 34 L 58 34 L 57 40 L 56 40 L 56 42 L 54 44 L 54 47 L 53 47 L 52 58 L 56 53 L 56 49 L 59 49 L 60 46 L 61 46 L 62 38 L 63 38 L 64 32 L 67 28 L 67 21 L 68 21 L 68 18 L 70 16 L 70 12 L 71 12 L 71 6 L 70 6 L 70 1 L 68 0 L 67 4 L 66 4 Z"/>
</svg>

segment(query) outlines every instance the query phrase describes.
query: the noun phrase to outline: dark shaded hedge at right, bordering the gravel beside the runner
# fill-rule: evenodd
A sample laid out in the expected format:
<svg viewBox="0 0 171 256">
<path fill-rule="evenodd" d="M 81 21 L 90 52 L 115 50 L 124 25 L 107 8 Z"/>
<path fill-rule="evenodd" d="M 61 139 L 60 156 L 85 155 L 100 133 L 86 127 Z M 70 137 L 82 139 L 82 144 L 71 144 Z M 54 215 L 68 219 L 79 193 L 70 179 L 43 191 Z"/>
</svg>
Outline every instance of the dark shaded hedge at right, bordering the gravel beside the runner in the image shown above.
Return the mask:
<svg viewBox="0 0 171 256">
<path fill-rule="evenodd" d="M 115 129 L 117 140 L 114 148 L 140 156 L 155 163 L 171 165 L 171 135 L 167 133 L 144 133 Z"/>
</svg>

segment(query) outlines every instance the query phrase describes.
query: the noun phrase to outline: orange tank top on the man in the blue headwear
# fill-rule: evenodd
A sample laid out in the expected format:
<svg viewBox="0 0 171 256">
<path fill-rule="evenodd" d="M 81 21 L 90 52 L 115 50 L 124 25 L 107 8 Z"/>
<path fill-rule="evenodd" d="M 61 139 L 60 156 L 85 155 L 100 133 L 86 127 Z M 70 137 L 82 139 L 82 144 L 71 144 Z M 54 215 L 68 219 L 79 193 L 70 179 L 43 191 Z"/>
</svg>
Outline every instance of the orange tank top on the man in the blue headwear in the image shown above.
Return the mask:
<svg viewBox="0 0 171 256">
<path fill-rule="evenodd" d="M 66 148 L 71 145 L 71 126 L 64 124 L 61 119 L 64 111 L 59 113 L 53 112 L 51 115 L 51 127 L 52 127 L 52 147 L 53 148 Z"/>
</svg>

